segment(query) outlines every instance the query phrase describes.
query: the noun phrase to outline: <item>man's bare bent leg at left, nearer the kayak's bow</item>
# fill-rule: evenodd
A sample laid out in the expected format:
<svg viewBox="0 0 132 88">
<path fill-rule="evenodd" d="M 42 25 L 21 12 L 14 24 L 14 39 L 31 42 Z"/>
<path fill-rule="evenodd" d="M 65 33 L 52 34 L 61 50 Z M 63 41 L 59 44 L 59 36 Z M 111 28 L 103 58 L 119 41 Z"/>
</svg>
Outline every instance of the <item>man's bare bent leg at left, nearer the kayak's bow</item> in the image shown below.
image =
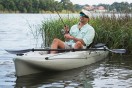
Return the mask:
<svg viewBox="0 0 132 88">
<path fill-rule="evenodd" d="M 55 38 L 52 42 L 51 49 L 58 49 L 58 48 L 64 49 L 65 44 L 62 40 Z M 56 53 L 56 52 L 57 51 L 51 51 L 50 53 Z"/>
</svg>

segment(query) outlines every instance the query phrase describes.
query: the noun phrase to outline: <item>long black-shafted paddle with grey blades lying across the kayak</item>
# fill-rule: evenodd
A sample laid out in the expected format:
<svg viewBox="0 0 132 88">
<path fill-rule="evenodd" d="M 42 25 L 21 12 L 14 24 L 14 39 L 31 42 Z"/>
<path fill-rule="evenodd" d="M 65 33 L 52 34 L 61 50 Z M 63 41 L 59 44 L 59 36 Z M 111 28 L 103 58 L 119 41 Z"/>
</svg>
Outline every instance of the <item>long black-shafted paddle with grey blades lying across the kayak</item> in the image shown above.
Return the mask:
<svg viewBox="0 0 132 88">
<path fill-rule="evenodd" d="M 89 48 L 89 49 L 24 49 L 24 50 L 5 50 L 8 53 L 11 54 L 23 54 L 23 53 L 27 53 L 27 52 L 34 52 L 34 51 L 100 51 L 100 50 L 107 50 L 110 51 L 112 53 L 125 53 L 126 50 L 125 49 L 108 49 L 106 46 L 104 46 L 104 48 Z"/>
</svg>

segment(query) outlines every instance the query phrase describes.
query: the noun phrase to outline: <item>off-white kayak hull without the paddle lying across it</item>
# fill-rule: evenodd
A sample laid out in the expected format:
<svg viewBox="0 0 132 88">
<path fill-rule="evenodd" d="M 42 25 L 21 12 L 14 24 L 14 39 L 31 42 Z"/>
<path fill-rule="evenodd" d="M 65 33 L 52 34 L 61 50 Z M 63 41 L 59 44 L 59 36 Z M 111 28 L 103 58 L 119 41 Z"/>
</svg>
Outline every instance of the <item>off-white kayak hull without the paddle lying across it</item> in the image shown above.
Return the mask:
<svg viewBox="0 0 132 88">
<path fill-rule="evenodd" d="M 47 70 L 64 71 L 74 69 L 98 62 L 107 55 L 108 51 L 76 51 L 58 54 L 29 52 L 23 56 L 17 56 L 13 60 L 16 76 L 23 76 Z M 45 58 L 48 58 L 48 60 Z"/>
</svg>

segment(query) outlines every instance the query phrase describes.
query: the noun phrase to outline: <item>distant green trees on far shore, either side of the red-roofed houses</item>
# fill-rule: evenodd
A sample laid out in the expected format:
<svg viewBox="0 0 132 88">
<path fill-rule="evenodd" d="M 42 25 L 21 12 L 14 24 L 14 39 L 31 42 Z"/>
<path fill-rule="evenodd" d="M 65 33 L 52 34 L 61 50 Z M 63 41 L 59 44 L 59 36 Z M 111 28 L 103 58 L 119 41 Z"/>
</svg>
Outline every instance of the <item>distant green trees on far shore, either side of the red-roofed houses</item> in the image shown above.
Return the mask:
<svg viewBox="0 0 132 88">
<path fill-rule="evenodd" d="M 113 4 L 99 4 L 94 6 L 104 6 L 108 11 L 132 12 L 132 3 L 114 2 Z M 0 0 L 0 12 L 19 12 L 19 13 L 41 13 L 44 11 L 62 12 L 79 11 L 84 5 L 73 4 L 70 0 Z"/>
</svg>

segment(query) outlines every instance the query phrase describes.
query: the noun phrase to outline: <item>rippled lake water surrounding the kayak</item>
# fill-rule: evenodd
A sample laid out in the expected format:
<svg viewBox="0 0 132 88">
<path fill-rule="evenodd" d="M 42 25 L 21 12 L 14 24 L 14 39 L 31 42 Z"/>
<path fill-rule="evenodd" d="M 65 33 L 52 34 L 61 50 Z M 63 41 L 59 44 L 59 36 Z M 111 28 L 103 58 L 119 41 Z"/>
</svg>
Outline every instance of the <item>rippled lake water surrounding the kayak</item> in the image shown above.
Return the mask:
<svg viewBox="0 0 132 88">
<path fill-rule="evenodd" d="M 35 29 L 51 18 L 59 17 L 57 14 L 0 14 L 0 88 L 132 88 L 131 56 L 106 59 L 70 71 L 17 78 L 12 61 L 15 55 L 5 49 L 40 47 L 41 36 L 33 36 Z"/>
</svg>

